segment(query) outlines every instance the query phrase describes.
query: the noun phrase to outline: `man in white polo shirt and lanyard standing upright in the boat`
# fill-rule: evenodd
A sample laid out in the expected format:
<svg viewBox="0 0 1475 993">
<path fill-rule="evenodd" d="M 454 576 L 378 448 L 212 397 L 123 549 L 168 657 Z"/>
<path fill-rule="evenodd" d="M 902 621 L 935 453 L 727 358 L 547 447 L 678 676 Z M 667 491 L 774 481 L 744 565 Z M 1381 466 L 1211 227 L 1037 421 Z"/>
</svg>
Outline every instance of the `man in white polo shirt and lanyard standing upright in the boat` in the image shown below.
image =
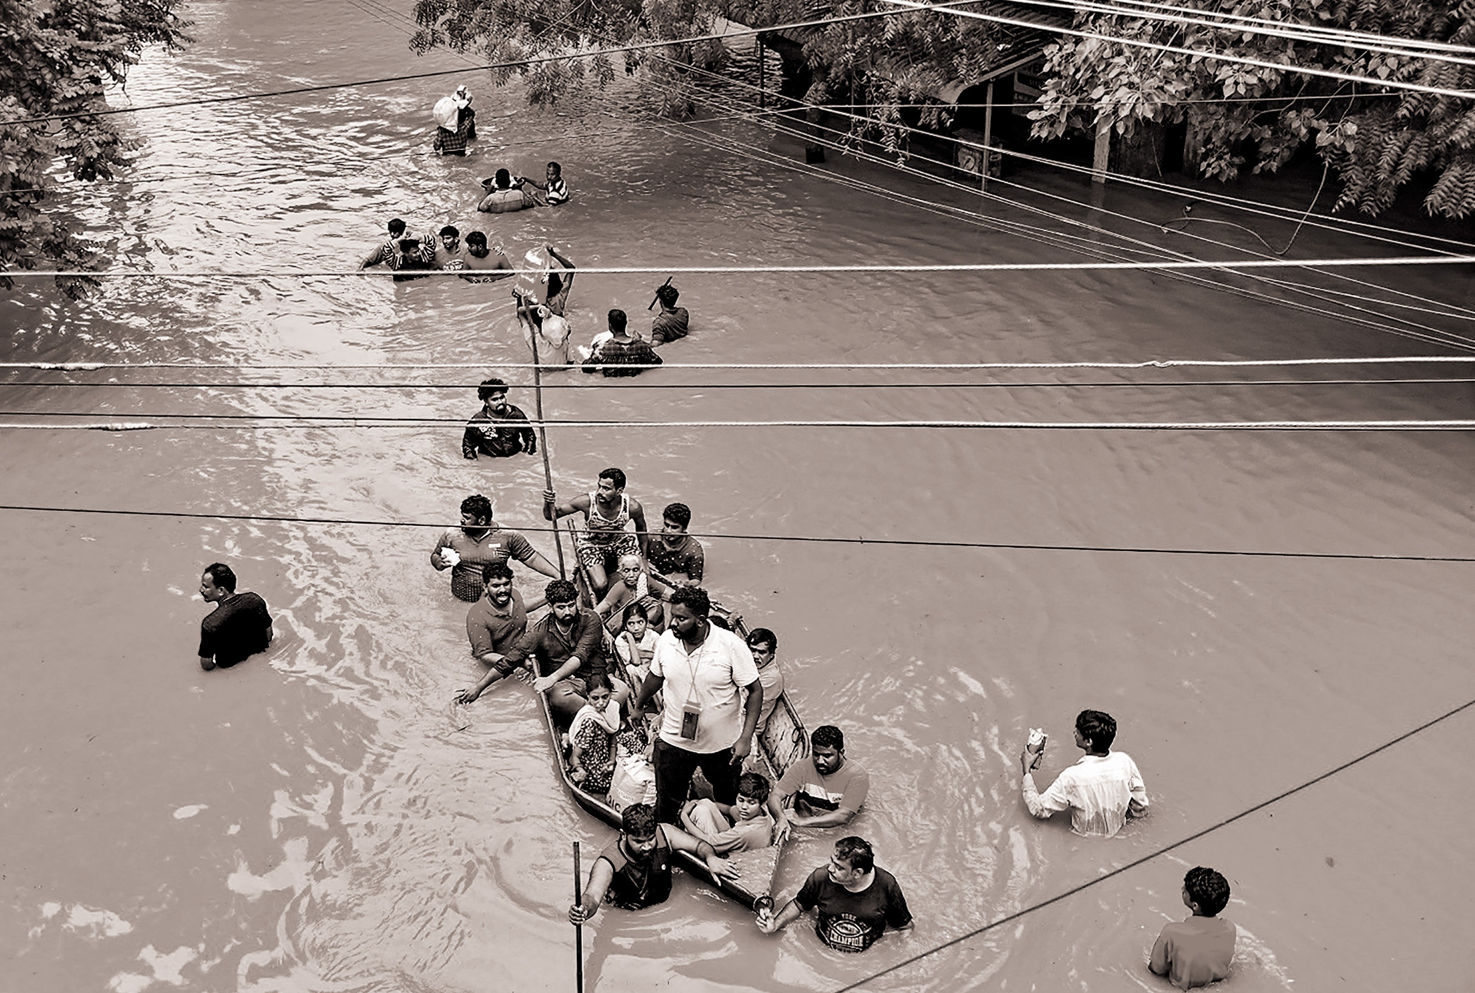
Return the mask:
<svg viewBox="0 0 1475 993">
<path fill-rule="evenodd" d="M 650 674 L 636 695 L 639 711 L 661 692 L 661 733 L 655 741 L 655 810 L 661 823 L 677 822 L 698 769 L 712 783 L 718 803 L 738 800 L 738 773 L 752 751 L 763 708 L 752 652 L 740 637 L 707 620 L 711 608 L 699 587 L 671 593 L 671 626 L 656 642 Z"/>
</svg>

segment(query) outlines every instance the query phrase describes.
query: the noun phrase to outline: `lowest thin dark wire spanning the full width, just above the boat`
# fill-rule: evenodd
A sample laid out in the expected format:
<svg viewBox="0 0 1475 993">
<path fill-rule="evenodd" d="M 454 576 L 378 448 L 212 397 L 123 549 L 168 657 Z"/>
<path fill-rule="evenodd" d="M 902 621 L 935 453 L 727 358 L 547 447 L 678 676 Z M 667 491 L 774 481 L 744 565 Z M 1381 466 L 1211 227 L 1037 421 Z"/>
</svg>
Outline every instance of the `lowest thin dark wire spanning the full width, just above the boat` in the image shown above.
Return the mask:
<svg viewBox="0 0 1475 993">
<path fill-rule="evenodd" d="M 386 521 L 382 518 L 326 518 L 326 516 L 286 516 L 273 513 L 201 513 L 193 511 L 128 511 L 119 508 L 62 508 L 24 503 L 0 503 L 0 511 L 21 511 L 34 513 L 88 513 L 100 516 L 142 516 L 142 518 L 178 518 L 186 521 L 249 521 L 266 524 L 330 524 L 351 527 L 384 527 L 384 528 L 416 528 L 416 530 L 445 530 L 462 527 L 460 521 Z M 556 528 L 544 524 L 506 525 L 527 534 L 552 534 Z M 1165 549 L 1148 546 L 1121 544 L 1044 544 L 1019 542 L 957 542 L 929 539 L 876 539 L 876 537 L 823 537 L 805 534 L 712 534 L 692 531 L 692 537 L 708 540 L 733 542 L 785 542 L 801 544 L 881 544 L 897 547 L 929 547 L 929 549 L 991 549 L 1013 552 L 1100 552 L 1121 555 L 1198 555 L 1198 556 L 1229 556 L 1229 558 L 1270 558 L 1270 559 L 1328 559 L 1328 561 L 1357 561 L 1357 562 L 1457 562 L 1475 564 L 1475 556 L 1456 555 L 1379 555 L 1361 552 L 1258 552 L 1246 549 Z"/>
</svg>

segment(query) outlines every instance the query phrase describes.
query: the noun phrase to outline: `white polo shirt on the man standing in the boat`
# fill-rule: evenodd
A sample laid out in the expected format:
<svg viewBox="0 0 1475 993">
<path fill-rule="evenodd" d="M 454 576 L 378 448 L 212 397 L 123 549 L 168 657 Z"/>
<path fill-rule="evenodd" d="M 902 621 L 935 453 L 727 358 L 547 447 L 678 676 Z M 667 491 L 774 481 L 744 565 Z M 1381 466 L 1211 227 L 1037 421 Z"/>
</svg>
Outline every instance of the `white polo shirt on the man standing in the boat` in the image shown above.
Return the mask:
<svg viewBox="0 0 1475 993">
<path fill-rule="evenodd" d="M 752 652 L 740 637 L 711 624 L 707 640 L 687 655 L 676 632 L 667 630 L 656 639 L 650 674 L 665 680 L 661 741 L 701 754 L 733 747 L 742 733 L 742 688 L 758 680 Z M 681 738 L 681 713 L 689 699 L 702 707 L 695 739 Z"/>
</svg>

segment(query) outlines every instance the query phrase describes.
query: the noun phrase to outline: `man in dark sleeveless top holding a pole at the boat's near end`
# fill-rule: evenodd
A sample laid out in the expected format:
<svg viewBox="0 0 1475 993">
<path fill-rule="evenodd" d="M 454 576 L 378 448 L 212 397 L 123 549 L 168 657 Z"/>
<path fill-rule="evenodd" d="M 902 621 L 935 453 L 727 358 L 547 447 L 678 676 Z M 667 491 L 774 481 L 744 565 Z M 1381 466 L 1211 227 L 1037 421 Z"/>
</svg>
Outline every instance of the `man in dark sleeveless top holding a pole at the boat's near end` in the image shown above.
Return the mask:
<svg viewBox="0 0 1475 993">
<path fill-rule="evenodd" d="M 620 840 L 594 859 L 583 899 L 568 909 L 575 927 L 584 924 L 608 899 L 624 910 L 665 903 L 671 896 L 671 854 L 689 851 L 707 863 L 712 876 L 738 878 L 738 868 L 717 848 L 671 823 L 656 823 L 650 804 L 633 803 L 620 814 Z"/>
</svg>

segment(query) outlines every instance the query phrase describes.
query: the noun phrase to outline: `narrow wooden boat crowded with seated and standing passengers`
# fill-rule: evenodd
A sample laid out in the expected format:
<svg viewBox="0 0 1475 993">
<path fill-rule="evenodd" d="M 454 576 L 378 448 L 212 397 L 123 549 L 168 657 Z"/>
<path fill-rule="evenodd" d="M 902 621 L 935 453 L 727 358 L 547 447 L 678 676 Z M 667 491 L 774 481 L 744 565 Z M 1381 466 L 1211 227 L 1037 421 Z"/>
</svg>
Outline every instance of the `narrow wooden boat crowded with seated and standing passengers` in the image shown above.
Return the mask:
<svg viewBox="0 0 1475 993">
<path fill-rule="evenodd" d="M 569 525 L 569 534 L 571 537 L 577 537 L 572 525 Z M 593 609 L 593 602 L 590 601 L 590 586 L 587 577 L 583 575 L 583 570 L 580 570 L 577 586 L 586 601 L 584 605 Z M 743 623 L 740 614 L 712 603 L 712 615 L 718 618 L 717 623 L 726 624 L 729 630 L 739 637 L 748 637 L 748 626 Z M 620 658 L 620 654 L 611 648 L 609 657 L 614 674 L 625 683 L 631 683 L 630 673 L 625 670 L 624 660 Z M 631 686 L 633 689 L 639 689 L 639 685 L 636 683 L 631 683 Z M 568 755 L 563 750 L 562 733 L 553 720 L 553 713 L 549 708 L 547 698 L 543 693 L 534 693 L 534 696 L 537 696 L 538 705 L 543 710 L 543 722 L 549 732 L 549 741 L 553 744 L 553 766 L 558 770 L 559 778 L 563 781 L 563 788 L 568 789 L 574 803 L 618 831 L 620 812 L 611 806 L 609 800 L 606 797 L 591 794 L 574 782 L 568 769 Z M 649 730 L 653 733 L 653 726 Z M 758 755 L 761 766 L 764 766 L 763 772 L 768 776 L 768 781 L 774 786 L 777 786 L 779 778 L 783 776 L 785 770 L 791 764 L 810 754 L 810 738 L 805 733 L 804 723 L 794 710 L 788 693 L 779 696 L 779 702 L 773 708 L 773 714 L 768 717 L 768 724 L 760 735 L 754 736 L 754 752 Z M 767 848 L 758 848 L 754 851 L 732 853 L 730 859 L 740 872 L 736 879 L 712 876 L 701 859 L 684 851 L 676 853 L 676 863 L 698 879 L 715 885 L 745 907 L 755 909 L 764 900 L 767 900 L 768 906 L 773 903 L 773 882 L 779 869 L 782 847 L 782 844 L 773 844 Z"/>
</svg>

